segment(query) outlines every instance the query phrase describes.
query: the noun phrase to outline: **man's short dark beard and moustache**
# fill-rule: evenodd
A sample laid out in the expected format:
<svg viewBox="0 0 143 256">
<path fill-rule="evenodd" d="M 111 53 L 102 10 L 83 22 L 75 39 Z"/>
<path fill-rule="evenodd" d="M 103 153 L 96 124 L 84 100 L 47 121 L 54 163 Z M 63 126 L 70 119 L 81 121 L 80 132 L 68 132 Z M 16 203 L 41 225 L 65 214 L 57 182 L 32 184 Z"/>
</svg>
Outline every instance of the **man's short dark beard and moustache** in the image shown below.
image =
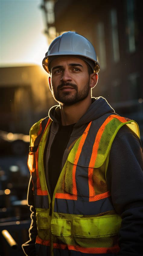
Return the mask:
<svg viewBox="0 0 143 256">
<path fill-rule="evenodd" d="M 75 93 L 73 94 L 73 93 L 71 93 L 71 91 L 62 92 L 60 89 L 63 86 L 71 86 L 72 88 L 75 89 Z M 89 81 L 86 85 L 83 86 L 81 91 L 78 91 L 77 85 L 67 82 L 67 83 L 62 83 L 62 84 L 58 85 L 56 93 L 52 90 L 52 96 L 61 105 L 69 106 L 69 105 L 73 105 L 73 104 L 87 98 L 87 96 L 89 94 L 89 90 L 90 90 Z"/>
</svg>

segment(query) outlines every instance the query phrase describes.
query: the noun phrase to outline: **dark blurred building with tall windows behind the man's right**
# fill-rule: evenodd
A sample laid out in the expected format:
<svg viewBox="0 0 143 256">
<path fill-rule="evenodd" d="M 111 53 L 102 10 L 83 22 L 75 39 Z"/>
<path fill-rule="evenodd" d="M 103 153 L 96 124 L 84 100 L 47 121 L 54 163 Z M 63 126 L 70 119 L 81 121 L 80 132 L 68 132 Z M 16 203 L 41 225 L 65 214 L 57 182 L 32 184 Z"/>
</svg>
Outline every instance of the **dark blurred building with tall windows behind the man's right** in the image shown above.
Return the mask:
<svg viewBox="0 0 143 256">
<path fill-rule="evenodd" d="M 135 119 L 143 136 L 142 1 L 43 0 L 43 6 L 49 40 L 51 31 L 58 36 L 73 30 L 92 42 L 101 68 L 93 96 L 105 97 L 120 115 Z"/>
</svg>

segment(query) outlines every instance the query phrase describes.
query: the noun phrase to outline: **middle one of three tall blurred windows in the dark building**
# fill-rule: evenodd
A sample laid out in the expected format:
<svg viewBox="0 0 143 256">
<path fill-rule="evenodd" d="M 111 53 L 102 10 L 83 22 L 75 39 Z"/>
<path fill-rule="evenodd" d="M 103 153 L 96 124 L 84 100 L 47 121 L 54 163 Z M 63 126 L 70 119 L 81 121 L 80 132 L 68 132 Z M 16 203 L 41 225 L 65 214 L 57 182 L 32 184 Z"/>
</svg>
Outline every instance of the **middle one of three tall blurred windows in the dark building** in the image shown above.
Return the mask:
<svg viewBox="0 0 143 256">
<path fill-rule="evenodd" d="M 117 12 L 115 9 L 111 10 L 111 31 L 112 31 L 112 46 L 114 62 L 119 61 L 119 38 L 118 38 L 118 23 Z"/>
</svg>

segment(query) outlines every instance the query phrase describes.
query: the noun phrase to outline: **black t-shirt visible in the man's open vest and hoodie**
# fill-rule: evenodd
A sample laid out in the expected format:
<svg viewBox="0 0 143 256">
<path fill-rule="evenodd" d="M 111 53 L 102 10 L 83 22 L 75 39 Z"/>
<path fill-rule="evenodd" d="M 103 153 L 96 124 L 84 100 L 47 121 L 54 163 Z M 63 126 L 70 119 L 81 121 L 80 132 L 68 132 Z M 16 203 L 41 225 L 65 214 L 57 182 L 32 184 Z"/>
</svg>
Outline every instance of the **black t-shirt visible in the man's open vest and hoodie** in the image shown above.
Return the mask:
<svg viewBox="0 0 143 256">
<path fill-rule="evenodd" d="M 51 199 L 52 199 L 59 175 L 62 171 L 61 165 L 62 165 L 63 154 L 68 144 L 74 125 L 75 124 L 65 125 L 65 126 L 60 125 L 59 130 L 51 146 L 49 163 L 48 163 L 48 176 L 49 176 L 49 184 L 51 189 Z"/>
</svg>

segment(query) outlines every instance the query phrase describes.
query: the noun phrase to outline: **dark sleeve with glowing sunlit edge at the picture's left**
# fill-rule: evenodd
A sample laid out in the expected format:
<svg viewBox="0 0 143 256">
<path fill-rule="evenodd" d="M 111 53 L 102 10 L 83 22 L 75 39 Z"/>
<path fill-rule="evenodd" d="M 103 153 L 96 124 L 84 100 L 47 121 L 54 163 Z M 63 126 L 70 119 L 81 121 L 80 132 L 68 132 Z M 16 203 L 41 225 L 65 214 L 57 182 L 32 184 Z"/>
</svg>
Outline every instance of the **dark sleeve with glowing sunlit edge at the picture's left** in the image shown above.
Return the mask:
<svg viewBox="0 0 143 256">
<path fill-rule="evenodd" d="M 37 224 L 36 224 L 36 210 L 34 207 L 34 196 L 33 196 L 32 188 L 33 188 L 33 184 L 30 178 L 29 186 L 28 186 L 28 194 L 27 194 L 28 205 L 30 206 L 30 211 L 31 211 L 31 215 L 30 215 L 31 225 L 29 229 L 30 240 L 27 241 L 25 244 L 22 244 L 22 249 L 24 253 L 28 256 L 36 256 L 35 241 L 37 236 Z"/>
</svg>

